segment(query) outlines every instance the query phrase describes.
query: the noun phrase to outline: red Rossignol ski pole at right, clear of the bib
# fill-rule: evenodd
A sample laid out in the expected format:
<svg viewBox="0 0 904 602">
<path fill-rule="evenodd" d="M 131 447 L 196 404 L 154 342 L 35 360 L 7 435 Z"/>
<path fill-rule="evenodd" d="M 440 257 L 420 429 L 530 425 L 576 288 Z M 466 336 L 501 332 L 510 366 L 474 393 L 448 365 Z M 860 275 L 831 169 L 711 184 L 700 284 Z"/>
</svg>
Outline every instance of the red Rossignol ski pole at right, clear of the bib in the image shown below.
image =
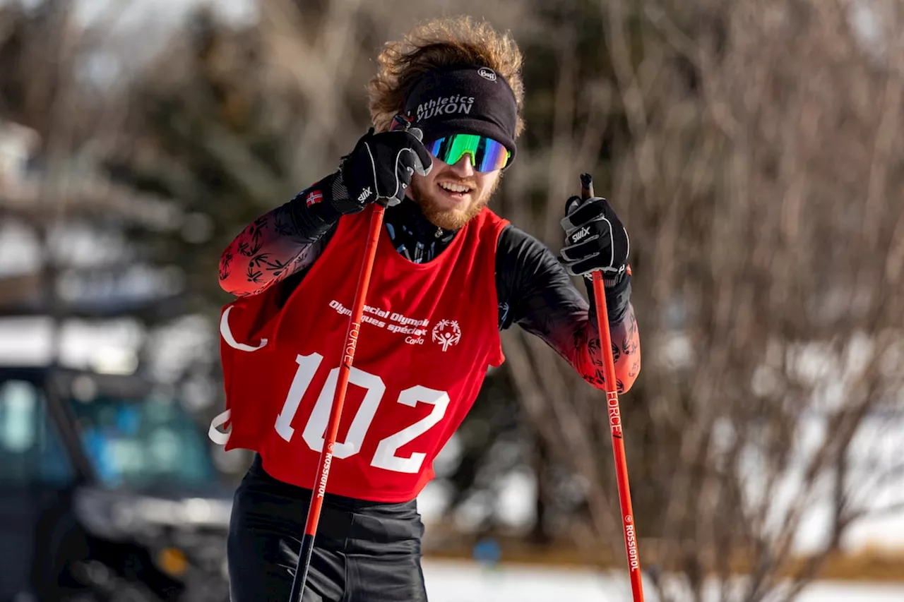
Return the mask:
<svg viewBox="0 0 904 602">
<path fill-rule="evenodd" d="M 593 178 L 590 174 L 581 174 L 580 197 L 589 199 L 592 196 Z M 605 371 L 603 375 L 606 377 L 609 432 L 612 435 L 612 455 L 616 462 L 618 500 L 621 506 L 622 528 L 625 531 L 625 551 L 628 574 L 631 577 L 631 594 L 634 602 L 644 602 L 644 582 L 640 573 L 640 554 L 637 552 L 637 528 L 634 521 L 634 510 L 631 508 L 631 487 L 627 481 L 627 457 L 625 456 L 625 441 L 622 439 L 621 409 L 618 406 L 616 363 L 612 357 L 612 334 L 609 333 L 606 290 L 603 287 L 603 274 L 600 270 L 593 272 L 593 300 L 597 306 L 599 354 Z"/>
</svg>

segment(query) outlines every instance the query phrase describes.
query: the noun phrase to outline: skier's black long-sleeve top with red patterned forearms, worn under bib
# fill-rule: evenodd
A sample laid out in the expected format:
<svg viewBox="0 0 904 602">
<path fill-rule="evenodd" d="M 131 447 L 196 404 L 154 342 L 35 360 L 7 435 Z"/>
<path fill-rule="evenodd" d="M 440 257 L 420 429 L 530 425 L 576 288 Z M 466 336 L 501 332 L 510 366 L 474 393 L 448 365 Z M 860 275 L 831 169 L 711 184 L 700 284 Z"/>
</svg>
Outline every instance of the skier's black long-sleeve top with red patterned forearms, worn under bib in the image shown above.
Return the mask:
<svg viewBox="0 0 904 602">
<path fill-rule="evenodd" d="M 288 279 L 300 281 L 335 231 L 338 214 L 326 202 L 306 202 L 311 189 L 252 222 L 223 251 L 221 287 L 236 296 L 255 295 Z M 395 248 L 416 263 L 434 258 L 455 237 L 404 201 L 386 210 L 384 227 Z M 499 328 L 513 324 L 539 336 L 581 377 L 605 389 L 598 359 L 599 334 L 593 288 L 591 303 L 571 284 L 551 250 L 513 225 L 499 235 L 496 248 L 496 294 Z M 589 281 L 588 281 L 589 282 Z M 616 360 L 618 390 L 628 390 L 640 371 L 640 338 L 629 302 L 630 278 L 607 289 L 610 332 Z"/>
</svg>

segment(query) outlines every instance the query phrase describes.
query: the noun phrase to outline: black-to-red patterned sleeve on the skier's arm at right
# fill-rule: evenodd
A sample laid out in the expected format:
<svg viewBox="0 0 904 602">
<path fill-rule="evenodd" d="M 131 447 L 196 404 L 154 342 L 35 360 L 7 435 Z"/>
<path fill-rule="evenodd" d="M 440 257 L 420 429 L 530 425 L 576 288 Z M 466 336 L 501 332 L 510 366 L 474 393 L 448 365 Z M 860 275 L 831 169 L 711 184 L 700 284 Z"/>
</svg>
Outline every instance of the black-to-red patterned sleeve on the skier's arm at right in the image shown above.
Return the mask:
<svg viewBox="0 0 904 602">
<path fill-rule="evenodd" d="M 588 303 L 550 249 L 508 226 L 499 237 L 496 288 L 501 329 L 520 325 L 570 362 L 585 381 L 606 389 L 592 287 L 588 287 Z M 619 392 L 629 390 L 640 372 L 640 335 L 629 295 L 627 281 L 612 299 L 607 298 Z"/>
</svg>

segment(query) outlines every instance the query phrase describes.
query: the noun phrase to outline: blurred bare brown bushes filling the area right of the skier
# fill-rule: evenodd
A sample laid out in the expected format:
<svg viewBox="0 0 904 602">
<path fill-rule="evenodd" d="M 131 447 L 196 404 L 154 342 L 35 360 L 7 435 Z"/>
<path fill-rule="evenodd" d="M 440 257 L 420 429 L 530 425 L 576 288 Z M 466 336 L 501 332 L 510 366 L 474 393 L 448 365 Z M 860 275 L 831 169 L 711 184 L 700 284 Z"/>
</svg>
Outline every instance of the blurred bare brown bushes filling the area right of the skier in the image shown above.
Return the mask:
<svg viewBox="0 0 904 602">
<path fill-rule="evenodd" d="M 904 212 L 892 192 L 904 158 L 892 134 L 904 15 L 871 5 L 865 38 L 843 3 L 610 0 L 596 10 L 607 93 L 584 101 L 593 81 L 576 75 L 593 18 L 552 26 L 550 143 L 519 152 L 523 180 L 507 178 L 505 214 L 555 240 L 573 166 L 610 159 L 598 192 L 610 191 L 636 241 L 646 350 L 623 404 L 641 558 L 681 576 L 673 590 L 651 572 L 664 599 L 700 599 L 711 576 L 724 599 L 790 599 L 854 520 L 899 508 L 866 500 L 887 497 L 879 484 L 899 470 L 873 460 L 888 441 L 877 412 L 901 411 L 901 375 L 888 367 L 904 326 Z M 583 122 L 587 106 L 600 115 Z M 527 415 L 583 477 L 587 540 L 623 559 L 598 396 L 541 343 L 519 333 L 507 343 Z M 817 500 L 831 506 L 832 533 L 796 564 Z M 729 594 L 739 570 L 749 578 Z"/>
</svg>

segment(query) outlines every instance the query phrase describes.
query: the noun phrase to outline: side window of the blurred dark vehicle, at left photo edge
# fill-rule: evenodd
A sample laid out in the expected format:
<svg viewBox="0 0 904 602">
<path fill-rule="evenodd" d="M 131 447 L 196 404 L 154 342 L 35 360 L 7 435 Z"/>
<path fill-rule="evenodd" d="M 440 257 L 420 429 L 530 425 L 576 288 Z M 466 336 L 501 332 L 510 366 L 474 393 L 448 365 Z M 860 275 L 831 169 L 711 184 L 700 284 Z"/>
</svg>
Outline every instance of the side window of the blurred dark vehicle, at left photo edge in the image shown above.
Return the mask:
<svg viewBox="0 0 904 602">
<path fill-rule="evenodd" d="M 0 483 L 66 485 L 75 479 L 41 390 L 0 382 Z"/>
</svg>

